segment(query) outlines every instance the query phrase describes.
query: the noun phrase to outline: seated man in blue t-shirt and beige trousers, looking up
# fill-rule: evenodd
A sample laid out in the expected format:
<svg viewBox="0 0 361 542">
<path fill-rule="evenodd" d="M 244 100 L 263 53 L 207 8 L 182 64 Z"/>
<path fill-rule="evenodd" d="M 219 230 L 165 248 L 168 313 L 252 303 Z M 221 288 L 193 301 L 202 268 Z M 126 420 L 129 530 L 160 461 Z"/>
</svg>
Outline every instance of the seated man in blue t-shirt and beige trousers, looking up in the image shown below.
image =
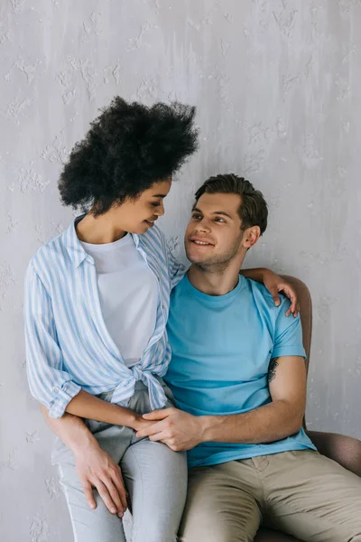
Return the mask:
<svg viewBox="0 0 361 542">
<path fill-rule="evenodd" d="M 239 276 L 264 233 L 261 192 L 236 175 L 205 182 L 185 235 L 192 265 L 171 294 L 166 381 L 177 406 L 138 432 L 188 450 L 183 542 L 253 540 L 261 523 L 301 540 L 361 540 L 361 480 L 320 455 L 302 429 L 300 318 Z"/>
</svg>

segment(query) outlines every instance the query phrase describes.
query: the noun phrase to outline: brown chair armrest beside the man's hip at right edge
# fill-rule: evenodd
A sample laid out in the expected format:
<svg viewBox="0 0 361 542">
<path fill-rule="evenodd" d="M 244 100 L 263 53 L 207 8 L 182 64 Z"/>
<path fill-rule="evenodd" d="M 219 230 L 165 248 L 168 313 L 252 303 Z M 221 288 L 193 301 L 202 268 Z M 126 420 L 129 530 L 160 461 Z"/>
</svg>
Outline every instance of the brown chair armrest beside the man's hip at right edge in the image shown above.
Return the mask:
<svg viewBox="0 0 361 542">
<path fill-rule="evenodd" d="M 319 453 L 361 477 L 361 441 L 352 436 L 337 433 L 307 431 L 307 434 Z"/>
</svg>

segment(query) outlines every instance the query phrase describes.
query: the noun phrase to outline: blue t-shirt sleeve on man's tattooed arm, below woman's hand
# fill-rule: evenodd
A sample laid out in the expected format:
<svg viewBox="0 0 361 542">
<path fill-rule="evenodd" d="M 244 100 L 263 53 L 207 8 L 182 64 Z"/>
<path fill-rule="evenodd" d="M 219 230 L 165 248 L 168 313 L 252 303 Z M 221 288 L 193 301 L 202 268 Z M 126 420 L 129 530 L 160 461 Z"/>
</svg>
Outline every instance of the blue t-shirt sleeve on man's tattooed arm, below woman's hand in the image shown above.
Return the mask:
<svg viewBox="0 0 361 542">
<path fill-rule="evenodd" d="M 280 295 L 282 300 L 277 307 L 277 317 L 274 330 L 274 346 L 271 358 L 281 356 L 301 356 L 306 358 L 302 344 L 302 326 L 300 314 L 295 318 L 292 314 L 286 316 L 290 308 L 290 300 Z"/>
</svg>

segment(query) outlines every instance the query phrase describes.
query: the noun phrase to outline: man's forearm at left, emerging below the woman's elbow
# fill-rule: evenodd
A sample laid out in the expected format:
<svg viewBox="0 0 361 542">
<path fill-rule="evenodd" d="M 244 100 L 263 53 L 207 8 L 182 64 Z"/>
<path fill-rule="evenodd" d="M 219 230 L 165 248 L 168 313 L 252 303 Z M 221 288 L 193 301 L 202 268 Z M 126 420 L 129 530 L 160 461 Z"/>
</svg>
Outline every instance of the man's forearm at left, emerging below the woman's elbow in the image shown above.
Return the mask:
<svg viewBox="0 0 361 542">
<path fill-rule="evenodd" d="M 52 418 L 49 416 L 48 409 L 43 405 L 41 407 L 46 423 L 74 454 L 77 454 L 81 449 L 87 449 L 90 445 L 98 445 L 97 439 L 91 434 L 81 418 L 67 413 L 59 419 Z"/>
</svg>

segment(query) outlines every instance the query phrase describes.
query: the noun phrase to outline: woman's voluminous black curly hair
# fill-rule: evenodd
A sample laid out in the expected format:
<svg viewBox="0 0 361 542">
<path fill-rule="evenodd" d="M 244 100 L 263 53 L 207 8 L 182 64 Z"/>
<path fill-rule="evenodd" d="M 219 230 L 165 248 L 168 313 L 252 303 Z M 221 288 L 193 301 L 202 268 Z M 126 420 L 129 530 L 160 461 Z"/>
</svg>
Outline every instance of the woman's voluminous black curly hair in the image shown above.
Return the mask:
<svg viewBox="0 0 361 542">
<path fill-rule="evenodd" d="M 60 174 L 62 203 L 93 206 L 97 216 L 168 178 L 198 148 L 195 113 L 177 102 L 146 107 L 114 98 L 70 153 Z"/>
</svg>

